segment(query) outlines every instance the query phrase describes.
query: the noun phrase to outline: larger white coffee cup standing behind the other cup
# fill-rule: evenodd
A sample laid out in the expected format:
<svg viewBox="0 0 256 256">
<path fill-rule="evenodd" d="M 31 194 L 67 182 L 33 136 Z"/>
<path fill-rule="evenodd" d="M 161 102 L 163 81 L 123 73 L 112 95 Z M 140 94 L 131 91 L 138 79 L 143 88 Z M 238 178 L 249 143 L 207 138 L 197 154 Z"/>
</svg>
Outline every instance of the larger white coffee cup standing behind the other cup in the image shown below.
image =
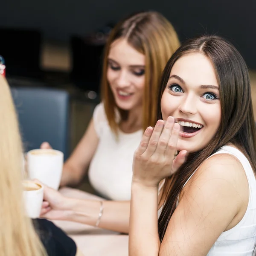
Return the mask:
<svg viewBox="0 0 256 256">
<path fill-rule="evenodd" d="M 63 153 L 55 149 L 33 149 L 27 153 L 29 179 L 37 179 L 58 189 L 63 169 Z"/>
</svg>

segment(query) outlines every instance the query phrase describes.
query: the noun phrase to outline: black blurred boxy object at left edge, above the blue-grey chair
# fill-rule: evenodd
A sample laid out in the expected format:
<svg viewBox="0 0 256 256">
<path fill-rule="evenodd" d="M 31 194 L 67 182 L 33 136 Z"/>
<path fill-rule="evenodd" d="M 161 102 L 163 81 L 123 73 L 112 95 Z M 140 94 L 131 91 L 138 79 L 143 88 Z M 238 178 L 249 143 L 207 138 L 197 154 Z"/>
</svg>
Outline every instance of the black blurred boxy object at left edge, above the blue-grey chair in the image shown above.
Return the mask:
<svg viewBox="0 0 256 256">
<path fill-rule="evenodd" d="M 0 28 L 0 54 L 6 61 L 6 76 L 42 78 L 41 33 L 37 30 Z"/>
</svg>

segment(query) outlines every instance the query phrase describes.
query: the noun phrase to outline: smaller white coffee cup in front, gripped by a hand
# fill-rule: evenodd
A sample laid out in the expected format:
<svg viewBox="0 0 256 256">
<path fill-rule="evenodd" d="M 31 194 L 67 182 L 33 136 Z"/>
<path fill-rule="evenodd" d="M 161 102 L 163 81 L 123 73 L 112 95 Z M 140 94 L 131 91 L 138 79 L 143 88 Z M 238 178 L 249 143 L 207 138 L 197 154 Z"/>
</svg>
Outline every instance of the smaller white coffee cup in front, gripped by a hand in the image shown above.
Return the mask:
<svg viewBox="0 0 256 256">
<path fill-rule="evenodd" d="M 24 180 L 22 185 L 26 214 L 29 218 L 38 218 L 44 199 L 44 187 L 32 180 Z"/>
</svg>

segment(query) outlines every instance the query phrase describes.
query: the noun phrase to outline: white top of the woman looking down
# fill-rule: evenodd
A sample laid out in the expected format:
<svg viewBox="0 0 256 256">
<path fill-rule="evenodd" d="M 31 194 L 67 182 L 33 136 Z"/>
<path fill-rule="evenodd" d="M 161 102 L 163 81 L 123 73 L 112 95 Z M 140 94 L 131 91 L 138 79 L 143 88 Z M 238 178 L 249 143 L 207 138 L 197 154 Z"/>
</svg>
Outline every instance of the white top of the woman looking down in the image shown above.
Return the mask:
<svg viewBox="0 0 256 256">
<path fill-rule="evenodd" d="M 131 200 L 133 156 L 143 131 L 125 134 L 119 130 L 119 137 L 116 139 L 102 103 L 94 110 L 93 122 L 99 145 L 90 163 L 90 183 L 105 198 L 116 201 Z"/>
</svg>

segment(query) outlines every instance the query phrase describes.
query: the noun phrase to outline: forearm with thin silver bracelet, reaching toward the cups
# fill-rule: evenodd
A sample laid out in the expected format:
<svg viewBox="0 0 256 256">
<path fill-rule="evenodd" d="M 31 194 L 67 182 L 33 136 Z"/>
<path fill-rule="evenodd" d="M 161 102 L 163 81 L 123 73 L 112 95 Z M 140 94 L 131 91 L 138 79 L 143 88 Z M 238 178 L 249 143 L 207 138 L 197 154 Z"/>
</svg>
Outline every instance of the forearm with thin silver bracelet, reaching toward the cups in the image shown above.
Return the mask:
<svg viewBox="0 0 256 256">
<path fill-rule="evenodd" d="M 67 221 L 76 221 L 95 226 L 100 211 L 100 201 L 67 199 Z M 103 201 L 103 212 L 99 227 L 120 233 L 129 230 L 130 201 Z"/>
</svg>

